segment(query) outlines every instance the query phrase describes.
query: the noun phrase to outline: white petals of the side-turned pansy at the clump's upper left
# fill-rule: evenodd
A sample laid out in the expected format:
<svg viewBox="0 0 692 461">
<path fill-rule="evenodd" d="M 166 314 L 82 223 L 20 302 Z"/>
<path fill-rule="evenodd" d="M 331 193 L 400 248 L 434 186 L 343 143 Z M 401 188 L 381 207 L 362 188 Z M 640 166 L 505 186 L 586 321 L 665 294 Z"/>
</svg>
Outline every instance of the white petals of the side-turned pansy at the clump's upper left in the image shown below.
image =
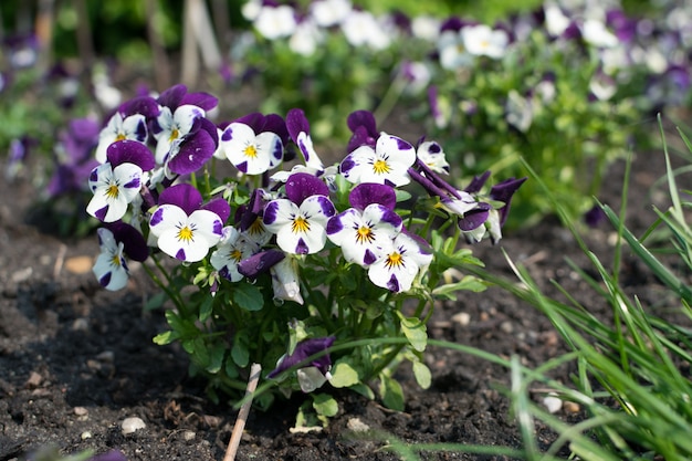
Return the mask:
<svg viewBox="0 0 692 461">
<path fill-rule="evenodd" d="M 174 144 L 190 133 L 195 122 L 203 116 L 205 111 L 191 104 L 181 105 L 175 112 L 167 106 L 161 107 L 151 125 L 156 139 L 156 163 L 162 165 Z"/>
</svg>

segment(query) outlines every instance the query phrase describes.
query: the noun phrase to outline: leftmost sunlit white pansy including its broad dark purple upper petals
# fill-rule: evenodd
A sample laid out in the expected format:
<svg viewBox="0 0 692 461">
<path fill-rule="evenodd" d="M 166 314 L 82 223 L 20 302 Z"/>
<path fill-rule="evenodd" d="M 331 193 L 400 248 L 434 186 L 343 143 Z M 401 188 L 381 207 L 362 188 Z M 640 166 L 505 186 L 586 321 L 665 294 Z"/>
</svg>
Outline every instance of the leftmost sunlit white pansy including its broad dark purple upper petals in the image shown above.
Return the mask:
<svg viewBox="0 0 692 461">
<path fill-rule="evenodd" d="M 106 163 L 94 168 L 88 187 L 94 193 L 86 212 L 103 222 L 125 216 L 143 184 L 143 172 L 154 168 L 154 157 L 144 144 L 118 140 L 108 146 Z"/>
</svg>

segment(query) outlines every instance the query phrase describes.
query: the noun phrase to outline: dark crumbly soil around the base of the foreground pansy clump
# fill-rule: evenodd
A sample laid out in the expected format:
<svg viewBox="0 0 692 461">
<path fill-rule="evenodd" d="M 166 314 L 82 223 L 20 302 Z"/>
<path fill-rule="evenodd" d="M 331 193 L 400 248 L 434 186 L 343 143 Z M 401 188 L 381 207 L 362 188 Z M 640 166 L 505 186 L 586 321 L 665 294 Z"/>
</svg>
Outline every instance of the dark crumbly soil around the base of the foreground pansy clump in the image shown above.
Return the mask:
<svg viewBox="0 0 692 461">
<path fill-rule="evenodd" d="M 664 193 L 650 193 L 663 172 L 662 153 L 635 157 L 628 224 L 636 233 L 653 222 L 650 205 L 664 205 Z M 618 164 L 605 181 L 602 201 L 619 207 L 622 178 L 623 164 Z M 95 237 L 59 239 L 25 223 L 36 193 L 28 178 L 0 181 L 0 461 L 23 460 L 45 447 L 61 453 L 117 449 L 130 461 L 221 460 L 237 411 L 205 398 L 201 384 L 188 377 L 187 357 L 179 347 L 153 344 L 166 324 L 161 311 L 144 313 L 153 292 L 138 281 L 145 279 L 141 269 L 134 269 L 126 291 L 102 290 L 91 273 L 98 252 Z M 611 261 L 612 234 L 608 226 L 585 232 L 587 243 L 606 264 Z M 586 283 L 566 264 L 569 258 L 590 270 L 572 234 L 556 219 L 511 232 L 499 247 L 525 264 L 547 293 L 557 295 L 551 285 L 555 280 L 595 314 L 608 317 L 609 306 L 586 290 Z M 474 253 L 491 271 L 512 276 L 500 248 L 483 243 Z M 647 308 L 656 310 L 664 289 L 627 252 L 622 265 L 627 290 Z M 454 317 L 462 313 L 468 324 Z M 534 307 L 496 289 L 440 305 L 429 334 L 503 357 L 516 355 L 528 367 L 567 350 Z M 237 459 L 396 460 L 386 450 L 392 438 L 410 443 L 522 446 L 508 400 L 501 392 L 510 383 L 507 369 L 432 347 L 427 362 L 433 376 L 430 389 L 421 390 L 410 373 L 401 370 L 407 396 L 402 412 L 339 392 L 340 411 L 327 428 L 296 433 L 291 428 L 300 400 L 280 402 L 269 412 L 253 410 Z M 555 378 L 569 383 L 574 371 L 566 366 L 555 370 Z M 534 397 L 542 399 L 539 392 Z M 557 415 L 565 420 L 583 417 L 575 407 L 563 407 Z M 141 418 L 146 428 L 124 436 L 120 425 L 128 417 Z M 354 432 L 358 421 L 371 431 Z M 539 422 L 535 437 L 543 448 L 555 440 Z M 431 460 L 503 459 L 444 452 L 423 455 Z"/>
</svg>

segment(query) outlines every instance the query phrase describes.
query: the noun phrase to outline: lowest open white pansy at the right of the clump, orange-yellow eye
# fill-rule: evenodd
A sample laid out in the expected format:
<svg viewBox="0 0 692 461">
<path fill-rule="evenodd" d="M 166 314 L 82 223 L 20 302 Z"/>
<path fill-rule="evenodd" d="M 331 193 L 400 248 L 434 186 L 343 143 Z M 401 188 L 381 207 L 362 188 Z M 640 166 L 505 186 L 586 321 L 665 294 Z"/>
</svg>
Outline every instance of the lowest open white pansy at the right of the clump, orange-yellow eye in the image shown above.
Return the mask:
<svg viewBox="0 0 692 461">
<path fill-rule="evenodd" d="M 377 286 L 395 293 L 410 290 L 421 268 L 432 261 L 430 245 L 415 234 L 402 231 L 386 248 L 382 256 L 368 269 Z"/>
</svg>

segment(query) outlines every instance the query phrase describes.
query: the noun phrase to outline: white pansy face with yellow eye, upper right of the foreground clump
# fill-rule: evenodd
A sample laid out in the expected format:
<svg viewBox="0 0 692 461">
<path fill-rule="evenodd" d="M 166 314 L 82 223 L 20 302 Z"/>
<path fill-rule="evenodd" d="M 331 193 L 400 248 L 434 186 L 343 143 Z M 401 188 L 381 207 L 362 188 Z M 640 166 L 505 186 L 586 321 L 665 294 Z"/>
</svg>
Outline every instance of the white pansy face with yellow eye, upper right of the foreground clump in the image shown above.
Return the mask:
<svg viewBox="0 0 692 461">
<path fill-rule="evenodd" d="M 381 133 L 375 148 L 363 145 L 346 156 L 339 166 L 353 184 L 377 182 L 394 187 L 410 182 L 408 169 L 416 161 L 416 149 L 406 140 Z"/>
</svg>

